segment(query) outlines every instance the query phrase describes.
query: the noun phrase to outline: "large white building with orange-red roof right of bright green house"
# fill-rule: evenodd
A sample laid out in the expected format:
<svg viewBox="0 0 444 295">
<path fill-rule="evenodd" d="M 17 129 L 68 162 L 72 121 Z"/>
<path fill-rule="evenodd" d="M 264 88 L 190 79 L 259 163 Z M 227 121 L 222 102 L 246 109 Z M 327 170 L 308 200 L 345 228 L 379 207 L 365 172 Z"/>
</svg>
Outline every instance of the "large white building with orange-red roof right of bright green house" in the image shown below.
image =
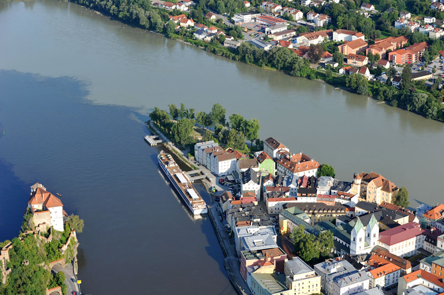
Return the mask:
<svg viewBox="0 0 444 295">
<path fill-rule="evenodd" d="M 276 160 L 278 175 L 317 176 L 320 164 L 302 152 Z"/>
</svg>

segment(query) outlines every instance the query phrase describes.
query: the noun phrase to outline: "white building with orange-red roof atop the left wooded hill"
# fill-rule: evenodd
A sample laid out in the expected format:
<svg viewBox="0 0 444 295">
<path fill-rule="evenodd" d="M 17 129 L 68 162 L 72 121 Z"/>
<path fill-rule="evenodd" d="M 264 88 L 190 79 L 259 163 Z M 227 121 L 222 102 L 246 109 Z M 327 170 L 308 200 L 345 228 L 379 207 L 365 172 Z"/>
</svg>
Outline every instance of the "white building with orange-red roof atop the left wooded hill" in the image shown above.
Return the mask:
<svg viewBox="0 0 444 295">
<path fill-rule="evenodd" d="M 34 226 L 42 232 L 52 227 L 55 230 L 63 231 L 63 210 L 62 201 L 53 194 L 46 191 L 46 188 L 35 183 L 31 186 L 31 197 L 28 201 L 28 208 L 33 215 Z"/>
</svg>

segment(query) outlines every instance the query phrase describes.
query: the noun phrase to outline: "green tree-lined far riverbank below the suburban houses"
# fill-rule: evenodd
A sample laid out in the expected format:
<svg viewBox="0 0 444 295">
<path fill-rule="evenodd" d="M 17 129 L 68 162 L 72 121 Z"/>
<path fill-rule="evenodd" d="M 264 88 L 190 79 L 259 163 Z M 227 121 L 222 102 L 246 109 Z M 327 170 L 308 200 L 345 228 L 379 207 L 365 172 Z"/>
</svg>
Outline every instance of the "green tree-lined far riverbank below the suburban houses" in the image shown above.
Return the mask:
<svg viewBox="0 0 444 295">
<path fill-rule="evenodd" d="M 231 49 L 221 46 L 219 41 L 213 42 L 203 42 L 202 40 L 194 40 L 191 31 L 182 28 L 180 31 L 175 31 L 175 29 L 168 28 L 168 15 L 178 14 L 183 12 L 171 12 L 163 8 L 153 7 L 148 5 L 146 8 L 140 9 L 140 13 L 144 13 L 144 16 L 136 14 L 133 18 L 128 18 L 128 13 L 120 12 L 119 14 L 114 13 L 118 11 L 118 3 L 115 3 L 117 9 L 107 10 L 99 2 L 95 0 L 70 0 L 76 4 L 80 4 L 87 9 L 93 9 L 99 11 L 110 17 L 111 20 L 118 20 L 129 26 L 137 27 L 140 29 L 148 30 L 157 34 L 163 34 L 164 36 L 175 39 L 187 44 L 192 44 L 199 48 L 205 48 L 205 51 L 212 52 L 218 56 L 223 56 L 234 61 L 240 61 L 248 65 L 257 66 L 263 69 L 274 69 L 276 71 L 282 71 L 290 76 L 305 77 L 310 80 L 322 80 L 333 87 L 343 88 L 351 93 L 357 93 L 359 95 L 370 96 L 374 99 L 387 101 L 391 106 L 399 106 L 401 108 L 407 109 L 413 113 L 421 115 L 427 119 L 434 119 L 440 122 L 444 122 L 444 105 L 441 104 L 442 99 L 436 97 L 435 92 L 430 92 L 428 95 L 427 103 L 424 102 L 422 105 L 412 106 L 411 101 L 417 98 L 413 98 L 413 94 L 423 94 L 422 90 L 410 91 L 399 91 L 391 85 L 385 85 L 379 81 L 348 81 L 347 77 L 344 75 L 338 75 L 338 68 L 335 72 L 332 71 L 332 75 L 327 74 L 325 70 L 319 70 L 310 66 L 308 60 L 299 58 L 295 56 L 290 50 L 284 47 L 274 47 L 269 51 L 264 51 L 263 49 L 258 49 L 252 44 L 246 43 L 242 52 L 239 46 L 238 49 Z M 124 9 L 128 7 L 125 6 Z M 149 12 L 149 13 L 148 13 Z M 186 12 L 185 12 L 186 13 Z M 226 31 L 225 34 L 233 34 L 233 30 L 227 27 L 225 24 L 210 23 L 209 21 L 204 21 L 209 26 L 221 27 L 221 30 Z M 184 30 L 183 30 L 184 29 Z M 155 31 L 153 31 L 155 30 Z M 236 36 L 235 36 L 236 37 Z M 276 48 L 276 49 L 275 49 Z M 295 58 L 296 57 L 296 58 Z M 284 59 L 284 63 L 282 60 Z M 352 79 L 351 79 L 352 80 Z M 359 79 L 358 79 L 359 80 Z M 365 82 L 365 83 L 364 83 Z M 350 84 L 350 85 L 349 85 Z M 353 91 L 350 91 L 353 90 Z M 423 99 L 420 99 L 421 101 Z"/>
</svg>

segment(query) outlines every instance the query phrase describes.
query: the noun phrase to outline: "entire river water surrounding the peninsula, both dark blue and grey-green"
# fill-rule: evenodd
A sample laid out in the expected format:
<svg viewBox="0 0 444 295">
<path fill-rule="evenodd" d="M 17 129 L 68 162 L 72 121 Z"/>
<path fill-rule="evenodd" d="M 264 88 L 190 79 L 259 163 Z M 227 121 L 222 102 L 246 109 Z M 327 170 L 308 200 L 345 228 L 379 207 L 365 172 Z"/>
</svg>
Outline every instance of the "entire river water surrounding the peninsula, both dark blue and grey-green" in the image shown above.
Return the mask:
<svg viewBox="0 0 444 295">
<path fill-rule="evenodd" d="M 333 165 L 341 180 L 375 171 L 407 187 L 413 206 L 443 201 L 443 123 L 73 3 L 1 1 L 0 239 L 17 234 L 39 181 L 85 221 L 85 293 L 235 294 L 210 221 L 189 218 L 158 171 L 159 148 L 143 141 L 150 109 L 181 102 L 257 118 L 262 139 Z"/>
</svg>

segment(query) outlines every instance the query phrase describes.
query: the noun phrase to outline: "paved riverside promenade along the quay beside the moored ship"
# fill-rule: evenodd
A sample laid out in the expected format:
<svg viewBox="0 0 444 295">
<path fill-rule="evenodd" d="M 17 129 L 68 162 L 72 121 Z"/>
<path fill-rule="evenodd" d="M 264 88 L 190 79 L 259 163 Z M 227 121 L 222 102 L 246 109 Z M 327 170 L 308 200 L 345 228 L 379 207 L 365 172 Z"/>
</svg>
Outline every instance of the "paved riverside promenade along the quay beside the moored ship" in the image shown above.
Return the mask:
<svg viewBox="0 0 444 295">
<path fill-rule="evenodd" d="M 157 135 L 159 135 L 164 140 L 164 145 L 166 148 L 175 152 L 176 154 L 181 155 L 181 157 L 179 158 L 184 164 L 188 165 L 191 169 L 193 166 L 198 166 L 200 169 L 202 169 L 202 171 L 207 175 L 207 178 L 202 179 L 202 183 L 207 189 L 207 192 L 209 192 L 210 186 L 216 183 L 216 177 L 211 173 L 211 171 L 209 171 L 204 166 L 196 164 L 190 161 L 188 158 L 186 158 L 185 152 L 174 146 L 172 142 L 162 132 L 160 132 L 151 122 L 149 122 L 149 127 L 151 127 L 152 130 L 157 132 Z M 251 295 L 247 283 L 244 281 L 243 277 L 239 272 L 240 262 L 239 258 L 236 257 L 234 245 L 230 244 L 230 235 L 225 230 L 221 220 L 219 219 L 218 206 L 217 203 L 214 201 L 213 194 L 209 193 L 209 197 L 210 197 L 210 202 L 209 203 L 207 202 L 208 216 L 210 218 L 211 224 L 213 225 L 216 236 L 218 237 L 223 255 L 225 256 L 223 265 L 225 266 L 228 277 L 231 281 L 231 284 L 234 286 L 239 295 Z"/>
</svg>

